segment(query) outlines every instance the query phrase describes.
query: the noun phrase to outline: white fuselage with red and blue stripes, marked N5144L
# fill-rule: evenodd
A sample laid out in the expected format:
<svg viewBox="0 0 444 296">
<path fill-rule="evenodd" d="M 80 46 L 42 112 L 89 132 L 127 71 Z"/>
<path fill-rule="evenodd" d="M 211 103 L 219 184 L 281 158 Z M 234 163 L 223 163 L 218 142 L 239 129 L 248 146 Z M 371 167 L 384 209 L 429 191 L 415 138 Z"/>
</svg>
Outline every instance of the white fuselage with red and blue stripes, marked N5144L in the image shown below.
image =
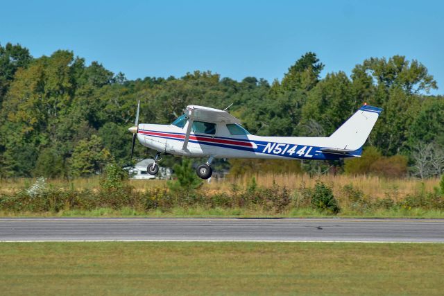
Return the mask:
<svg viewBox="0 0 444 296">
<path fill-rule="evenodd" d="M 215 128 L 210 131 L 212 134 L 205 133 L 205 130 L 192 130 L 185 149 L 182 146 L 187 125 L 178 127 L 173 124 L 141 123 L 138 125 L 137 139 L 143 146 L 158 152 L 189 157 L 319 160 L 344 157 L 321 151 L 321 148 L 331 147 L 328 137 L 262 137 L 245 130 L 241 134 L 242 131 L 236 127 L 233 129 L 232 124 L 214 124 Z"/>
</svg>

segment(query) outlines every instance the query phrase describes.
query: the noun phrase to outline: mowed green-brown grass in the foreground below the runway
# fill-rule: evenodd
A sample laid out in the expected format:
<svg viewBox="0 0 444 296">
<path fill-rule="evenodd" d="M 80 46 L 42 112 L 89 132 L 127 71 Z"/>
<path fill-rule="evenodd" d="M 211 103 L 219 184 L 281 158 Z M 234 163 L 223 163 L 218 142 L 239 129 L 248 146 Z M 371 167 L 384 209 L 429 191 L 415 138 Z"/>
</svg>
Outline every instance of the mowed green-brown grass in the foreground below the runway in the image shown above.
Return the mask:
<svg viewBox="0 0 444 296">
<path fill-rule="evenodd" d="M 3 295 L 442 295 L 444 245 L 1 243 Z"/>
</svg>

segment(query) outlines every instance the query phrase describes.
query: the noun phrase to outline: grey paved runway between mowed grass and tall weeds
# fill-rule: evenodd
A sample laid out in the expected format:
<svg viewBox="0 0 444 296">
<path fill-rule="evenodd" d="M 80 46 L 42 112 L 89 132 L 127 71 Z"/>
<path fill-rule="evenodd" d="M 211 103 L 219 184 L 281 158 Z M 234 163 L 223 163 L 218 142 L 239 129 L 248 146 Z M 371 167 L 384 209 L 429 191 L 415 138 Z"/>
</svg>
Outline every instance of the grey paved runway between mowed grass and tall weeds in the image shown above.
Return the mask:
<svg viewBox="0 0 444 296">
<path fill-rule="evenodd" d="M 387 241 L 444 243 L 444 220 L 0 218 L 0 241 Z"/>
</svg>

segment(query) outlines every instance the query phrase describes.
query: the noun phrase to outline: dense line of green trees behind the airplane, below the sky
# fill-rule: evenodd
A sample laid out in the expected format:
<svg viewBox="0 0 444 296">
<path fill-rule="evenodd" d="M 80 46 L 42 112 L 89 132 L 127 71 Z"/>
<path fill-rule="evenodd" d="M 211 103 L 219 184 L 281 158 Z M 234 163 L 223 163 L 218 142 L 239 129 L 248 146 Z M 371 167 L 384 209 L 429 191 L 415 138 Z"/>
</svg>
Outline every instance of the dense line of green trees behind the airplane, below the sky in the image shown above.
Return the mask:
<svg viewBox="0 0 444 296">
<path fill-rule="evenodd" d="M 361 159 L 287 162 L 290 171 L 375 173 L 431 177 L 444 171 L 444 100 L 432 96 L 434 77 L 402 55 L 368 58 L 321 78 L 324 64 L 305 53 L 281 81 L 222 78 L 194 71 L 176 78 L 127 80 L 72 51 L 34 58 L 20 44 L 0 44 L 0 177 L 85 177 L 106 164 L 129 163 L 127 128 L 141 101 L 139 122 L 170 123 L 186 105 L 230 112 L 253 134 L 329 136 L 364 102 L 384 108 Z M 146 150 L 136 146 L 135 155 Z M 174 161 L 174 160 L 173 160 Z M 377 166 L 372 164 L 378 162 Z M 282 170 L 263 161 L 220 164 Z M 394 171 L 393 171 L 393 168 Z"/>
</svg>

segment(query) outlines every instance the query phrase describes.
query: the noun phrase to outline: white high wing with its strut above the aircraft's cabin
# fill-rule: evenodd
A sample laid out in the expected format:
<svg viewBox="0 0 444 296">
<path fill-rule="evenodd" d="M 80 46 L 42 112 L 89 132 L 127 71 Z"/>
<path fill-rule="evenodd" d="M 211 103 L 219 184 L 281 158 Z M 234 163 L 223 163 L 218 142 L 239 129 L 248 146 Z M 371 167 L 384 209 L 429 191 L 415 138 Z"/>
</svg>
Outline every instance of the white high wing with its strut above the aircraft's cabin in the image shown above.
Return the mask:
<svg viewBox="0 0 444 296">
<path fill-rule="evenodd" d="M 232 116 L 226 111 L 198 105 L 187 106 L 185 108 L 185 114 L 188 118 L 188 127 L 185 134 L 185 140 L 183 141 L 183 150 L 185 150 L 188 146 L 189 134 L 191 133 L 191 126 L 193 125 L 194 121 L 210 121 L 214 123 L 224 122 L 237 124 L 241 123 L 239 119 Z"/>
</svg>

